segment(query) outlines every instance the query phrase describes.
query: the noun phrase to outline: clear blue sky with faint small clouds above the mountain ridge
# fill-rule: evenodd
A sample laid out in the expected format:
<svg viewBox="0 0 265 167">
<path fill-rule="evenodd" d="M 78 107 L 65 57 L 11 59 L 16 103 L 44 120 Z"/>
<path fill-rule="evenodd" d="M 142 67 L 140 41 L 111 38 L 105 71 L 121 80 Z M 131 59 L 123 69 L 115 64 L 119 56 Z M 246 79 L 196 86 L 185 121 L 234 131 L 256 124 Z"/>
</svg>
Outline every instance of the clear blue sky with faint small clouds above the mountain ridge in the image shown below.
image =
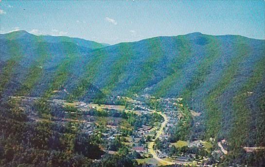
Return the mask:
<svg viewBox="0 0 265 167">
<path fill-rule="evenodd" d="M 194 32 L 265 39 L 265 0 L 0 0 L 0 33 L 18 30 L 108 44 Z"/>
</svg>

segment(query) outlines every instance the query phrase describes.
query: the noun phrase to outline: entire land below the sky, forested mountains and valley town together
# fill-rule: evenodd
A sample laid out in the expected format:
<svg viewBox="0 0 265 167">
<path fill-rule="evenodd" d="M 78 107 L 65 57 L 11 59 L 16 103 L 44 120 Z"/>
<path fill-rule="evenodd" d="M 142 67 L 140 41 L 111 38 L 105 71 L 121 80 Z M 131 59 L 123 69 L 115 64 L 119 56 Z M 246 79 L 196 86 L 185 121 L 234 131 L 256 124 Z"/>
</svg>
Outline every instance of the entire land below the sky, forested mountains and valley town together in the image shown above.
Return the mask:
<svg viewBox="0 0 265 167">
<path fill-rule="evenodd" d="M 106 45 L 17 31 L 0 44 L 3 167 L 264 162 L 264 40 Z"/>
</svg>

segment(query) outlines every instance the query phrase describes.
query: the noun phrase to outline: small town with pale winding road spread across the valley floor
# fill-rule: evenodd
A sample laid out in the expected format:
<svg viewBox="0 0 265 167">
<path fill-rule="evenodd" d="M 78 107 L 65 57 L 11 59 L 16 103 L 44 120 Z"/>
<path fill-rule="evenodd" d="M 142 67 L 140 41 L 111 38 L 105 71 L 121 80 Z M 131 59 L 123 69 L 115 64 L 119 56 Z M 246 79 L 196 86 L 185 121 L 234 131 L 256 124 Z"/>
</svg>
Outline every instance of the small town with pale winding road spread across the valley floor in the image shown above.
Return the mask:
<svg viewBox="0 0 265 167">
<path fill-rule="evenodd" d="M 81 132 L 79 133 L 83 132 L 83 135 L 86 135 L 88 138 L 93 138 L 98 135 L 100 136 L 97 144 L 100 145 L 100 149 L 104 152 L 110 154 L 120 154 L 120 151 L 124 151 L 125 149 L 126 155 L 137 154 L 137 161 L 142 165 L 151 164 L 166 166 L 185 164 L 196 166 L 200 164 L 200 162 L 206 162 L 208 160 L 209 154 L 205 154 L 198 159 L 194 157 L 194 153 L 185 153 L 184 150 L 183 152 L 180 150 L 179 153 L 181 156 L 173 156 L 172 154 L 169 155 L 168 149 L 174 148 L 175 143 L 168 142 L 168 137 L 172 135 L 168 131 L 168 126 L 172 123 L 178 122 L 177 120 L 172 119 L 172 114 L 182 112 L 182 98 L 158 99 L 158 101 L 162 103 L 167 103 L 168 107 L 173 107 L 168 110 L 164 110 L 163 112 L 157 111 L 156 108 L 149 108 L 150 106 L 146 105 L 143 101 L 139 101 L 138 98 L 135 100 L 128 97 L 118 97 L 120 100 L 126 100 L 126 105 L 96 104 L 91 102 L 86 103 L 83 101 L 68 102 L 67 100 L 60 99 L 45 100 L 42 98 L 25 96 L 12 96 L 9 98 L 11 101 L 15 100 L 17 103 L 23 104 L 19 108 L 21 111 L 27 113 L 29 122 L 49 122 L 51 124 L 62 125 L 68 124 L 68 126 L 71 125 L 69 128 L 72 130 L 81 126 L 83 128 L 80 129 Z M 152 97 L 146 95 L 144 98 L 152 99 Z M 46 101 L 45 103 L 47 103 L 50 110 L 53 111 L 53 113 L 49 114 L 49 117 L 47 117 L 47 115 L 43 115 L 43 113 L 36 113 L 35 107 L 37 106 L 32 106 L 32 104 L 41 100 Z M 180 108 L 174 109 L 176 106 L 180 106 Z M 193 113 L 193 115 L 197 115 L 192 110 L 189 112 Z M 132 118 L 143 116 L 154 117 L 153 115 L 156 115 L 155 117 L 159 117 L 159 119 L 154 122 L 152 121 L 153 123 L 146 122 L 140 126 L 138 125 L 139 128 L 137 128 L 135 127 L 136 125 L 134 125 L 135 123 L 131 123 L 131 125 L 129 125 L 124 122 L 124 120 L 127 119 L 124 115 Z M 172 123 L 169 123 L 169 121 Z M 126 131 L 124 131 L 124 129 L 126 129 Z M 120 142 L 120 146 L 118 146 L 118 148 L 117 146 L 112 148 L 107 144 L 112 143 L 113 141 Z M 157 145 L 158 141 L 163 143 L 162 146 L 169 146 L 169 148 L 167 148 L 167 150 L 159 150 Z M 179 140 L 177 143 L 178 142 L 182 141 Z M 187 146 L 187 148 L 193 149 L 206 149 L 201 145 L 201 143 L 204 142 L 206 141 L 187 141 L 187 144 L 176 146 L 180 149 Z M 211 145 L 214 145 L 214 142 L 212 142 Z M 208 149 L 212 149 L 212 146 Z M 223 151 L 222 149 L 223 148 L 221 148 L 221 151 Z M 216 149 L 214 151 L 220 150 Z"/>
</svg>

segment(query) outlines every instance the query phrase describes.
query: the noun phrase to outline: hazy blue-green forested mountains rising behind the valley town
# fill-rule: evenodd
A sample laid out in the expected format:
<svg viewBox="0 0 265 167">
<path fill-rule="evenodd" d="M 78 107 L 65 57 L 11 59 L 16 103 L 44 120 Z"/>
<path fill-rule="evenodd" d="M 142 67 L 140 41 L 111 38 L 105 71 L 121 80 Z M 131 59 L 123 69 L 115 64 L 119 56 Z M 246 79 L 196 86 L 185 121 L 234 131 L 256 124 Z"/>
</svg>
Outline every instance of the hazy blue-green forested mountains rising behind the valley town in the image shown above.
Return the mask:
<svg viewBox="0 0 265 167">
<path fill-rule="evenodd" d="M 3 98 L 183 98 L 202 113 L 192 137 L 265 144 L 265 40 L 190 33 L 108 46 L 18 31 L 0 34 L 0 77 Z"/>
</svg>

